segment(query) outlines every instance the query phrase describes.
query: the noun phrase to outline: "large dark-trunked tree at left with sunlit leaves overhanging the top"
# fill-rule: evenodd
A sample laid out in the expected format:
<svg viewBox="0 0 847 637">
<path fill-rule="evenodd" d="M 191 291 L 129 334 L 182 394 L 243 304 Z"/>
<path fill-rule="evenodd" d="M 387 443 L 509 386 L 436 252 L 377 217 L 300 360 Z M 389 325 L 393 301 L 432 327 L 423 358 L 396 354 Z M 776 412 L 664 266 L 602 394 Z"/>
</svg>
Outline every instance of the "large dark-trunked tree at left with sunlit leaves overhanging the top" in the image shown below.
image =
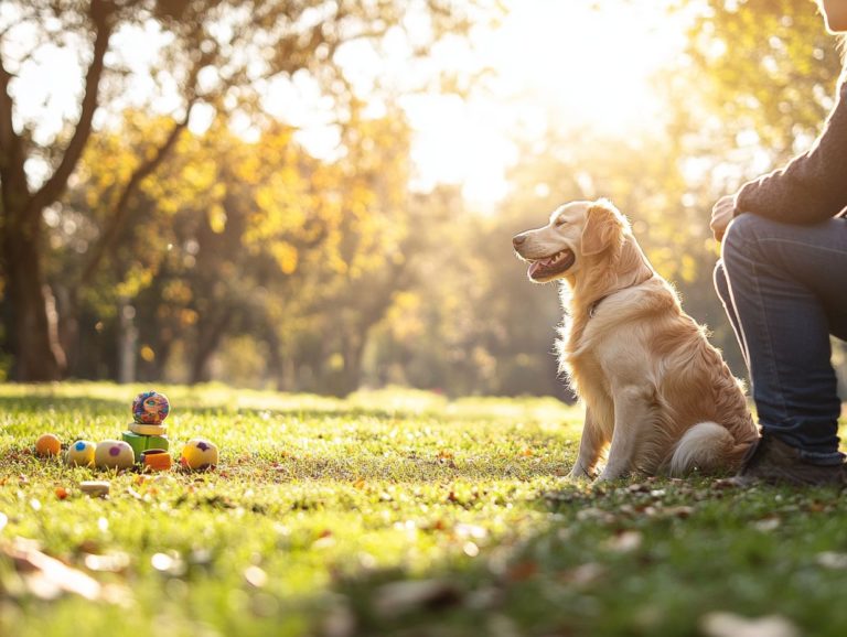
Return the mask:
<svg viewBox="0 0 847 637">
<path fill-rule="evenodd" d="M 470 6 L 469 6 L 470 7 Z M 51 292 L 44 281 L 43 212 L 64 194 L 95 130 L 101 105 L 126 99 L 139 77 L 114 42 L 139 31 L 154 34 L 152 60 L 143 71 L 156 86 L 149 106 L 176 100 L 170 126 L 139 155 L 133 170 L 115 188 L 110 214 L 86 255 L 76 292 L 97 272 L 108 246 L 126 224 L 129 203 L 141 182 L 156 171 L 187 127 L 199 104 L 222 111 L 260 107 L 258 89 L 276 76 L 308 73 L 343 110 L 351 98 L 336 53 L 345 43 L 383 37 L 401 29 L 410 11 L 427 24 L 412 37 L 424 52 L 446 32 L 467 31 L 468 11 L 443 0 L 409 6 L 387 1 L 255 0 L 36 0 L 12 3 L 0 25 L 0 195 L 2 198 L 2 273 L 7 347 L 21 380 L 58 378 L 66 357 L 57 337 Z M 34 36 L 33 36 L 34 34 Z M 57 45 L 77 56 L 84 72 L 79 112 L 47 140 L 33 134 L 34 121 L 15 105 L 17 75 L 45 47 Z M 158 50 L 157 46 L 158 45 Z M 148 53 L 149 53 L 148 52 Z M 111 53 L 111 55 L 109 55 Z M 130 54 L 131 55 L 131 54 Z M 33 176 L 33 165 L 39 176 Z M 73 323 L 67 331 L 73 334 Z"/>
</svg>

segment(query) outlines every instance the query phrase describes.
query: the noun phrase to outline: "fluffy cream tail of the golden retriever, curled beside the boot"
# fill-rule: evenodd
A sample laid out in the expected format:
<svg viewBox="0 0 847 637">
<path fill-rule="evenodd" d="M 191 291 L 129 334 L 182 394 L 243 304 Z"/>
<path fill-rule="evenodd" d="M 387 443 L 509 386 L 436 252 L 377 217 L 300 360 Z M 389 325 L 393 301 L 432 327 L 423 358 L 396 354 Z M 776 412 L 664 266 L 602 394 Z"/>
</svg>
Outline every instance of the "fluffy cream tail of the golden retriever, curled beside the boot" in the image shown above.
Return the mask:
<svg viewBox="0 0 847 637">
<path fill-rule="evenodd" d="M 684 476 L 695 467 L 705 473 L 731 468 L 740 462 L 748 446 L 736 444 L 727 428 L 717 422 L 698 422 L 676 443 L 668 473 Z"/>
</svg>

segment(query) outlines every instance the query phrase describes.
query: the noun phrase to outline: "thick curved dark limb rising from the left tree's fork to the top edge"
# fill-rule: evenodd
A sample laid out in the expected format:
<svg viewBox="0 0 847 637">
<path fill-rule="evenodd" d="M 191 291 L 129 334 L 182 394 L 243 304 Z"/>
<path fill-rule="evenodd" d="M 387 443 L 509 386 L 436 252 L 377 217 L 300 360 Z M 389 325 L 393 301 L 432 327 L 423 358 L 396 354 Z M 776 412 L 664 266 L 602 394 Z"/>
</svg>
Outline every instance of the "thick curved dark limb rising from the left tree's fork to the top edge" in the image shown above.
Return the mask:
<svg viewBox="0 0 847 637">
<path fill-rule="evenodd" d="M 30 215 L 41 214 L 43 208 L 62 196 L 67 186 L 67 180 L 76 169 L 76 164 L 88 143 L 88 138 L 92 134 L 92 119 L 98 106 L 100 77 L 104 69 L 104 57 L 109 47 L 114 12 L 115 7 L 109 0 L 92 0 L 90 17 L 96 29 L 96 35 L 92 51 L 92 63 L 85 76 L 85 96 L 83 97 L 79 120 L 58 166 L 53 175 L 32 196 L 26 210 Z"/>
</svg>

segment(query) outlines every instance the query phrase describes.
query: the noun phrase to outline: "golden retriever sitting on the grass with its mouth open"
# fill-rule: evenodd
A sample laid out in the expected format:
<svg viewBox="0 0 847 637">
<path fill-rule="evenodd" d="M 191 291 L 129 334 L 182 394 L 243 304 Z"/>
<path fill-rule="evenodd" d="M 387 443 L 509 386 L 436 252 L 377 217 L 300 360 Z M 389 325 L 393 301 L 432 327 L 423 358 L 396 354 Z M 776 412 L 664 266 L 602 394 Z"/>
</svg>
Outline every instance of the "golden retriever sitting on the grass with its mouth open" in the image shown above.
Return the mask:
<svg viewBox="0 0 847 637">
<path fill-rule="evenodd" d="M 585 403 L 571 478 L 739 467 L 758 439 L 739 381 L 608 201 L 573 202 L 517 235 L 530 281 L 557 279 L 559 368 Z"/>
</svg>

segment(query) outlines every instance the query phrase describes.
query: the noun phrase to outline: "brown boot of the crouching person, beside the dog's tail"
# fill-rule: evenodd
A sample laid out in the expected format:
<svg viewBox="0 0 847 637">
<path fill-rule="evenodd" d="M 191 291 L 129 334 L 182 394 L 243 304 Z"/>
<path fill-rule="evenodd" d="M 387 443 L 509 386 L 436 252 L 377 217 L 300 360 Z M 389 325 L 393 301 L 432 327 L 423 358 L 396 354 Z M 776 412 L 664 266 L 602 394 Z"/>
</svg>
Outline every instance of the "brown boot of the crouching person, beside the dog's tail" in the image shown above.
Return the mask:
<svg viewBox="0 0 847 637">
<path fill-rule="evenodd" d="M 761 483 L 844 487 L 845 472 L 844 464 L 811 464 L 801 457 L 798 450 L 765 433 L 748 452 L 738 475 L 729 482 L 739 487 Z"/>
</svg>

